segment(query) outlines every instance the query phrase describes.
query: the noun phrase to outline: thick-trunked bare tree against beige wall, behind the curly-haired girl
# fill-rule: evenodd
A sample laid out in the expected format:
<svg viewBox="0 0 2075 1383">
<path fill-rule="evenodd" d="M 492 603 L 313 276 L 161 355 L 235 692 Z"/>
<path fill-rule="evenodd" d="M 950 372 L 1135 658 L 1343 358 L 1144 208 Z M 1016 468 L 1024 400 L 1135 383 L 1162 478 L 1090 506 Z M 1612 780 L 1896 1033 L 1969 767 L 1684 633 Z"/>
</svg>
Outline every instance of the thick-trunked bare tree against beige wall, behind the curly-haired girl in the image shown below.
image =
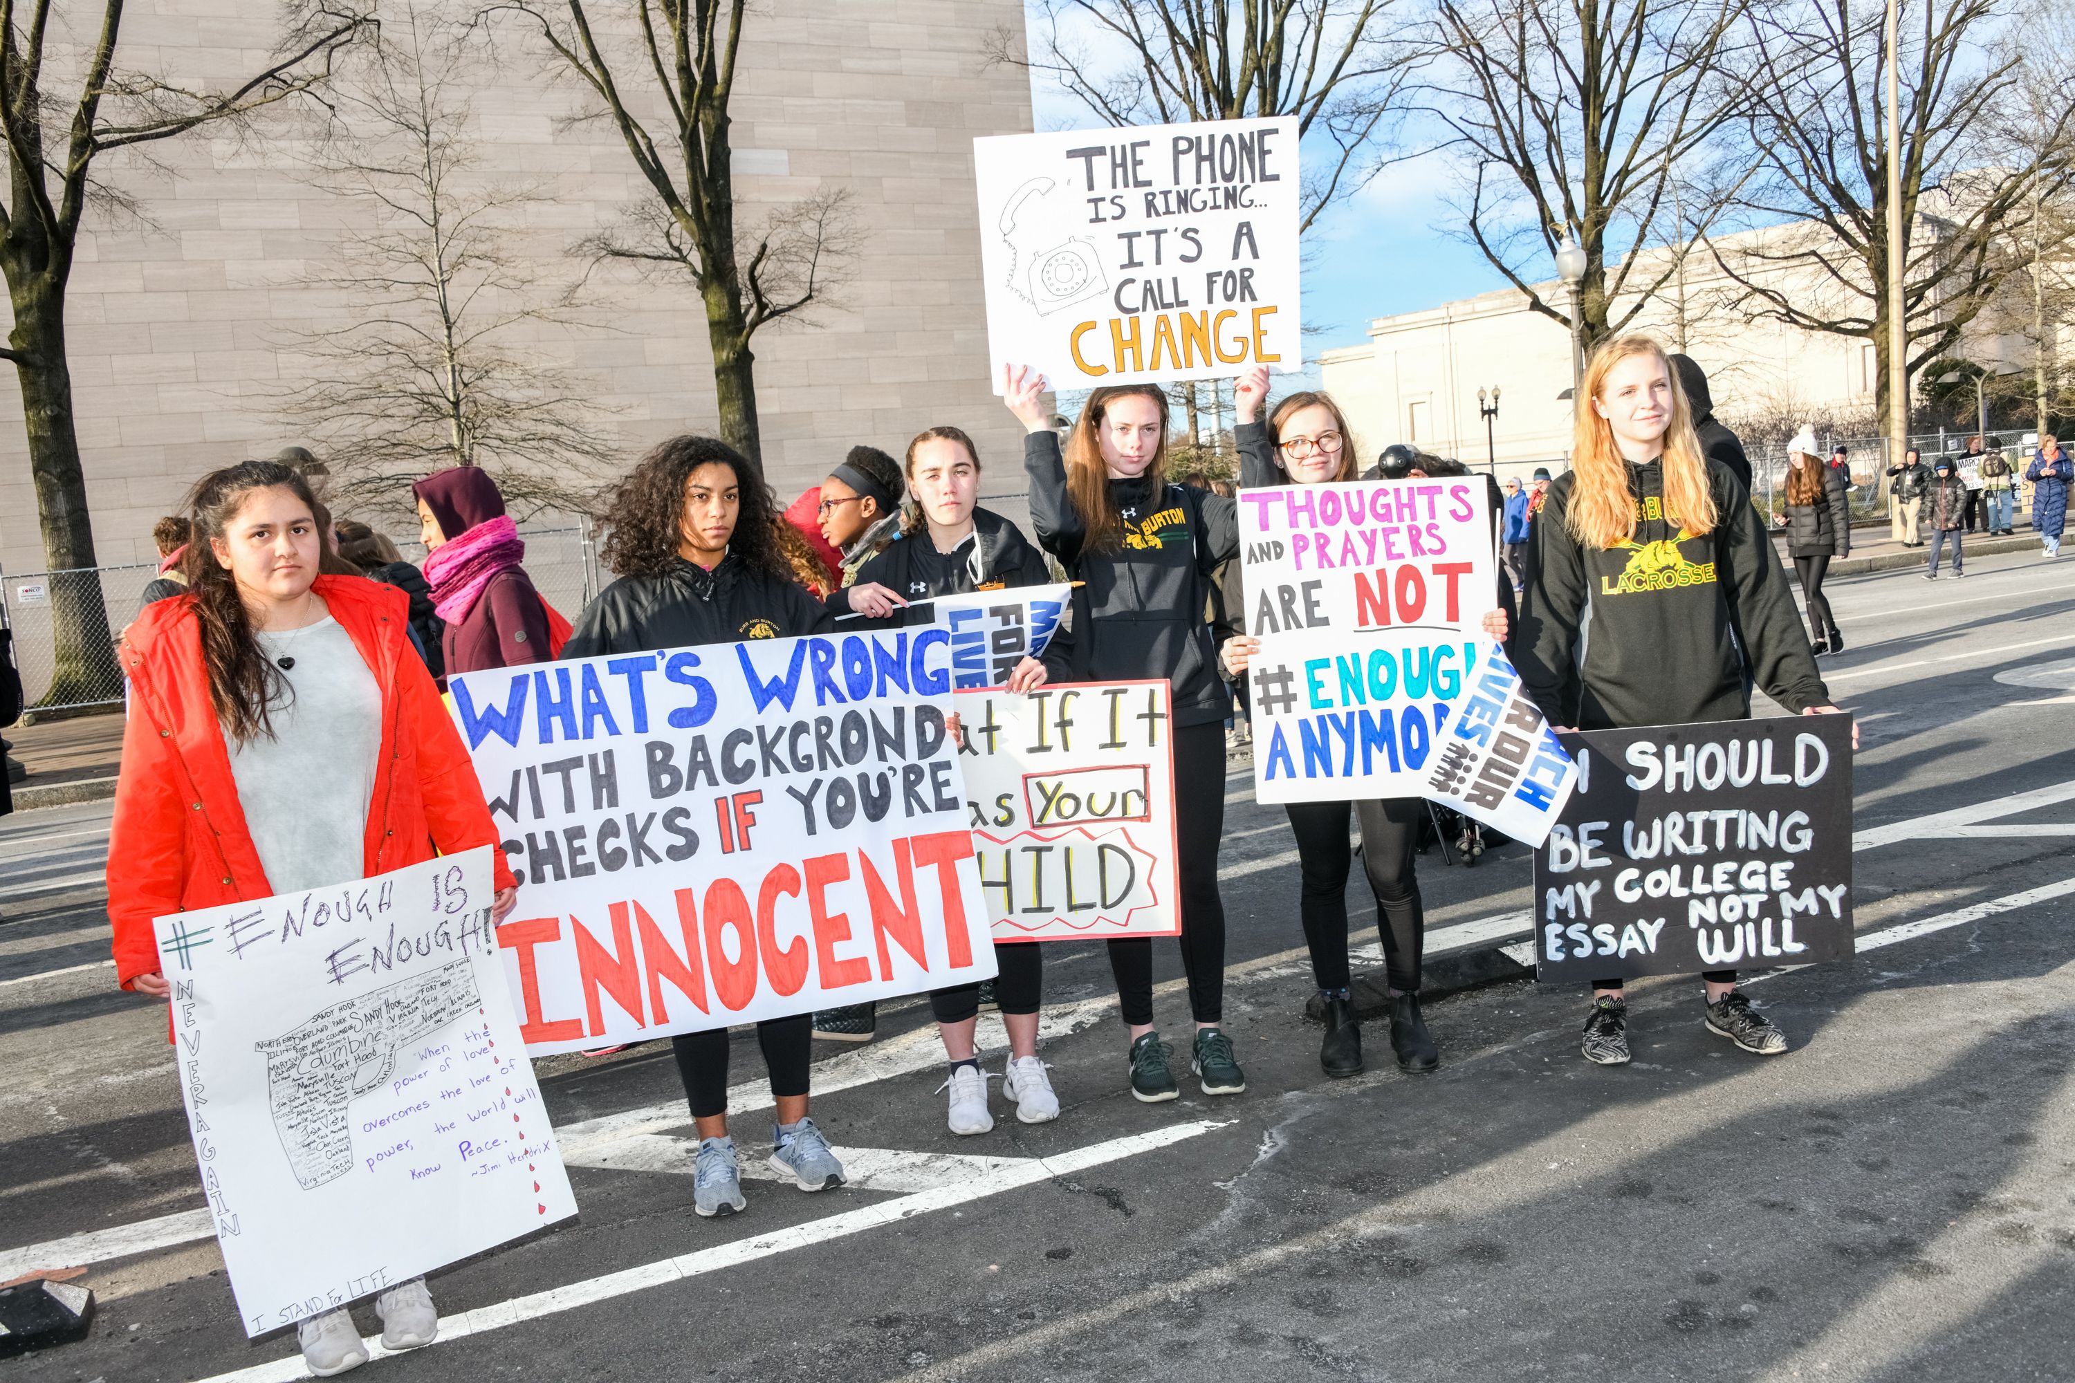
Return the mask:
<svg viewBox="0 0 2075 1383">
<path fill-rule="evenodd" d="M 486 15 L 533 29 L 627 141 L 654 201 L 589 249 L 691 278 L 706 305 L 720 435 L 762 469 L 749 342 L 838 286 L 855 249 L 847 189 L 739 224 L 728 104 L 747 0 L 620 0 L 614 12 L 631 12 L 637 29 L 631 44 L 602 35 L 591 8 L 587 0 L 504 0 Z M 649 122 L 639 114 L 645 108 L 662 114 Z"/>
</svg>

